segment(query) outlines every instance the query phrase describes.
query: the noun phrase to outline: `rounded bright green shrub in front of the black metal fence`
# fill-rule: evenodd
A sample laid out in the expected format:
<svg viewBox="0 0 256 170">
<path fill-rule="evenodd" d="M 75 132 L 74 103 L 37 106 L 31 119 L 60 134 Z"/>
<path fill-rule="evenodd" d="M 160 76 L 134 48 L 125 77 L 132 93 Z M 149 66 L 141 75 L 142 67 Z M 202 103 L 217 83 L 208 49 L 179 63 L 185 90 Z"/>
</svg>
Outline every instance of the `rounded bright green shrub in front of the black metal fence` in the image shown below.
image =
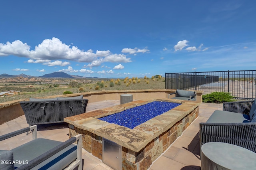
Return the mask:
<svg viewBox="0 0 256 170">
<path fill-rule="evenodd" d="M 234 96 L 226 92 L 212 92 L 202 96 L 204 103 L 224 103 L 235 101 L 233 98 Z"/>
</svg>

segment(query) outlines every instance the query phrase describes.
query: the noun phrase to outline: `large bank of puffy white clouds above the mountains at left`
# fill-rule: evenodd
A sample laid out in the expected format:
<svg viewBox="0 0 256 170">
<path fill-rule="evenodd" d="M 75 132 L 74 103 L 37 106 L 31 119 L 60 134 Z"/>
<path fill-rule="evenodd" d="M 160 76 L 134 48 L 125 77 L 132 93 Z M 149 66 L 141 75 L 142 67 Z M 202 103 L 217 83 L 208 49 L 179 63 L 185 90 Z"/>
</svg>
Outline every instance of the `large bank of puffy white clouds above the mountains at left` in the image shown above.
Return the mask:
<svg viewBox="0 0 256 170">
<path fill-rule="evenodd" d="M 58 38 L 43 40 L 42 43 L 35 46 L 35 49 L 30 49 L 30 45 L 16 40 L 12 43 L 0 43 L 0 56 L 15 55 L 18 57 L 28 58 L 28 63 L 44 63 L 45 65 L 55 65 L 56 61 L 68 60 L 91 63 L 95 65 L 96 61 L 102 59 L 102 62 L 131 62 L 130 58 L 126 58 L 123 54 L 113 54 L 109 50 L 96 53 L 92 49 L 87 51 L 80 50 L 76 46 L 66 45 Z M 146 52 L 148 49 L 137 49 L 137 52 Z M 56 60 L 53 61 L 52 60 Z M 94 62 L 94 63 L 92 63 Z M 63 62 L 63 65 L 68 65 L 68 62 Z M 58 64 L 56 64 L 58 65 Z"/>
</svg>

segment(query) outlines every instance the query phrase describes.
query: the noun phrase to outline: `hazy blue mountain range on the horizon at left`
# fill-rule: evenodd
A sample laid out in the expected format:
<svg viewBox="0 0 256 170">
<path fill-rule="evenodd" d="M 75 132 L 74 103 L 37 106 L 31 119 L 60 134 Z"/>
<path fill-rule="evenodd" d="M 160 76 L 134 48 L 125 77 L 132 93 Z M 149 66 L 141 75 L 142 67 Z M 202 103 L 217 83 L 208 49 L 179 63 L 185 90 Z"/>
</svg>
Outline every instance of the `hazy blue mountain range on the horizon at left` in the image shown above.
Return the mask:
<svg viewBox="0 0 256 170">
<path fill-rule="evenodd" d="M 26 75 L 26 74 L 19 74 L 19 75 L 0 74 L 0 78 L 12 78 L 12 77 L 31 78 L 31 77 L 36 77 L 36 76 L 31 76 L 31 75 Z M 58 77 L 58 78 L 70 78 L 70 79 L 98 78 L 98 77 L 83 77 L 80 75 L 70 75 L 70 74 L 64 73 L 62 71 L 45 74 L 45 75 L 38 76 L 38 77 L 42 77 L 42 78 L 57 78 Z"/>
</svg>

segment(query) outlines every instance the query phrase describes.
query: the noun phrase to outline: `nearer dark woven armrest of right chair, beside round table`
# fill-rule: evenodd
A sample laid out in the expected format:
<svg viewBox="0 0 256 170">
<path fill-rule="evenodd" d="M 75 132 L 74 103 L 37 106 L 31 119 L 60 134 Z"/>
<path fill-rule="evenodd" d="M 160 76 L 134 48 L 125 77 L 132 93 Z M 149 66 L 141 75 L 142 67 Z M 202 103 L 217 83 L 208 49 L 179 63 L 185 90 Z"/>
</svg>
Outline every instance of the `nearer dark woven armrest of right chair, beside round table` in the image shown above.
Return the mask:
<svg viewBox="0 0 256 170">
<path fill-rule="evenodd" d="M 256 123 L 200 123 L 200 146 L 224 142 L 256 152 Z M 201 148 L 201 147 L 200 147 Z"/>
</svg>

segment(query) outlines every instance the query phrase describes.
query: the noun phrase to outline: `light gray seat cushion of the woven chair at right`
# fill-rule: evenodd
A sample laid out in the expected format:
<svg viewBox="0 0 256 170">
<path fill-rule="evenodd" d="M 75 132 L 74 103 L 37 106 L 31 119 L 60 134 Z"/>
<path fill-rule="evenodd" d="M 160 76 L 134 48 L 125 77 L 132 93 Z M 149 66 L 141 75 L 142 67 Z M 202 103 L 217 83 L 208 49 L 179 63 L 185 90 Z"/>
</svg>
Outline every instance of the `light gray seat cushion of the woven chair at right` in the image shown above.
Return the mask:
<svg viewBox="0 0 256 170">
<path fill-rule="evenodd" d="M 209 117 L 207 123 L 248 123 L 250 122 L 249 115 L 234 113 L 228 111 L 214 111 Z"/>
</svg>

